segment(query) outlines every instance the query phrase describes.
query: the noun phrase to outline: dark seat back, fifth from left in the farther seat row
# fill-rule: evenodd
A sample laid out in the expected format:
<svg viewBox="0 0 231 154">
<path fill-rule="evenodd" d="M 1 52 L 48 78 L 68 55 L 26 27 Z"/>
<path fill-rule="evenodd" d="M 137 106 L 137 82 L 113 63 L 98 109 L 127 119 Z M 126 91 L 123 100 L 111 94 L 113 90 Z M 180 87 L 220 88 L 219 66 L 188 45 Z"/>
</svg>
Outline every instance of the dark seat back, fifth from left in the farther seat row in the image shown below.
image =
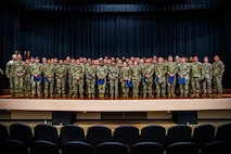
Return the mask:
<svg viewBox="0 0 231 154">
<path fill-rule="evenodd" d="M 91 126 L 87 130 L 86 141 L 92 146 L 112 141 L 112 130 L 106 126 Z"/>
</svg>

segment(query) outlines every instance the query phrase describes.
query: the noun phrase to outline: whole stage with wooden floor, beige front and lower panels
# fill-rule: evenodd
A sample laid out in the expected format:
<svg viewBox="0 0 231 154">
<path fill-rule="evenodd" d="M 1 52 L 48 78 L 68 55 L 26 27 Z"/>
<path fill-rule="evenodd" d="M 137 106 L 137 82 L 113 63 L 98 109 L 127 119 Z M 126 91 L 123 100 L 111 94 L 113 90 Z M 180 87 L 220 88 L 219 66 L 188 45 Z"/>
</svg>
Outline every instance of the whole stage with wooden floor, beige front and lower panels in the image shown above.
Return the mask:
<svg viewBox="0 0 231 154">
<path fill-rule="evenodd" d="M 15 99 L 0 95 L 0 119 L 52 119 L 53 112 L 76 119 L 167 119 L 174 112 L 196 112 L 198 119 L 231 119 L 231 92 L 221 98 Z"/>
</svg>

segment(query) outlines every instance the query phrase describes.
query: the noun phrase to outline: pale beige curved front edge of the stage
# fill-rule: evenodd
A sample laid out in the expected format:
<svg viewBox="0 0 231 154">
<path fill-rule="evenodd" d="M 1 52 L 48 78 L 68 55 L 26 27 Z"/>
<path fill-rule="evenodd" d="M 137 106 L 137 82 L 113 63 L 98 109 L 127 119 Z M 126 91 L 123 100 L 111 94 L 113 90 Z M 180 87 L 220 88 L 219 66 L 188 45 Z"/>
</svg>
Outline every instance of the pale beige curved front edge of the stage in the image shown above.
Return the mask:
<svg viewBox="0 0 231 154">
<path fill-rule="evenodd" d="M 231 98 L 137 100 L 0 99 L 0 110 L 65 112 L 229 111 L 231 110 Z"/>
</svg>

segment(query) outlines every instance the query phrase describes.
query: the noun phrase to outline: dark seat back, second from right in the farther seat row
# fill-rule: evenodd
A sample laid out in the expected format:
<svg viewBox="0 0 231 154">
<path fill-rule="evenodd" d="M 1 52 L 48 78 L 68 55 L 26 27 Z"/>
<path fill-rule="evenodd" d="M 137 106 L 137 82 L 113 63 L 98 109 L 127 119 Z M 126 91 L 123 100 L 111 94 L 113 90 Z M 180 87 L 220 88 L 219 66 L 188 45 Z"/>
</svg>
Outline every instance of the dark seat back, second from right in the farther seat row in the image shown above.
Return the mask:
<svg viewBox="0 0 231 154">
<path fill-rule="evenodd" d="M 202 124 L 194 128 L 192 141 L 198 144 L 200 149 L 215 140 L 215 126 L 210 124 Z"/>
</svg>

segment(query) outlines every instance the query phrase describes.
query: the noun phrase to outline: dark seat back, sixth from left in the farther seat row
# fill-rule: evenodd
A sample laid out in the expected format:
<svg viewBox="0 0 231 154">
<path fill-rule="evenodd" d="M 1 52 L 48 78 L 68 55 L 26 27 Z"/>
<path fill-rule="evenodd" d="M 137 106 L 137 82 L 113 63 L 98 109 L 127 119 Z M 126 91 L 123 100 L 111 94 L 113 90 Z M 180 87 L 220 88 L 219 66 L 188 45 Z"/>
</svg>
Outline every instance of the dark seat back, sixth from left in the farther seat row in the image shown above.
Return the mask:
<svg viewBox="0 0 231 154">
<path fill-rule="evenodd" d="M 131 146 L 140 141 L 139 129 L 134 126 L 118 126 L 114 130 L 114 141 Z"/>
</svg>

